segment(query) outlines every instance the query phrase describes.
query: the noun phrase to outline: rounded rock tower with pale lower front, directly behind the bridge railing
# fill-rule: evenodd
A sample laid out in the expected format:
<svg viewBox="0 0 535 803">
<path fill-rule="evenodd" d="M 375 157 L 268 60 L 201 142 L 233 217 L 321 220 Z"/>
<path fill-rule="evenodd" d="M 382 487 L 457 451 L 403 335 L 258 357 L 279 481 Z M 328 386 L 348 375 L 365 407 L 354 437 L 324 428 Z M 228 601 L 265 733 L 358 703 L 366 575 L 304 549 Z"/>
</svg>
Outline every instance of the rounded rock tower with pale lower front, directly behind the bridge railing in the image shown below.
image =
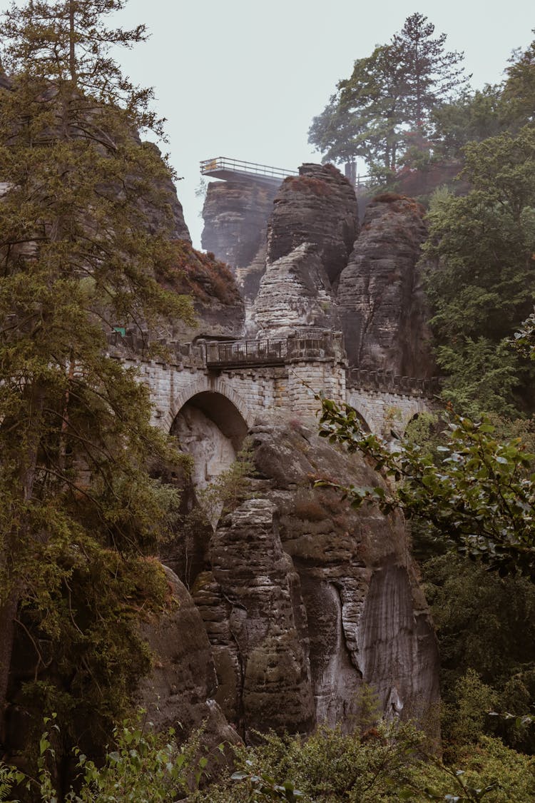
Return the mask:
<svg viewBox="0 0 535 803">
<path fill-rule="evenodd" d="M 334 286 L 359 229 L 355 193 L 332 165 L 302 165 L 299 173 L 282 183 L 268 225 L 265 272 L 250 314 L 263 335 L 338 328 Z M 259 267 L 255 260 L 255 278 Z"/>
</svg>

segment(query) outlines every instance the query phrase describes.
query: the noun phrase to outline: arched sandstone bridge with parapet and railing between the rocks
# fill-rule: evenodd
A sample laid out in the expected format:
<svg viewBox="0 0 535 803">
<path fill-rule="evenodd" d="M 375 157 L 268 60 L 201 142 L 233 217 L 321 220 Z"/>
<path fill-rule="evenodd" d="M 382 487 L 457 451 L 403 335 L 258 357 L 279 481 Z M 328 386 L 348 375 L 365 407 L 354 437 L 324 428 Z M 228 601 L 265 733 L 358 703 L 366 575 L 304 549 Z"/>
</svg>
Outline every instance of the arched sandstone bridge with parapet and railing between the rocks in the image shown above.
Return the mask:
<svg viewBox="0 0 535 803">
<path fill-rule="evenodd" d="M 144 361 L 133 332 L 111 337 L 110 353 L 136 366 L 151 390 L 154 422 L 171 431 L 180 411 L 192 407 L 211 419 L 236 448 L 266 410 L 310 418 L 315 393 L 348 402 L 373 432 L 403 430 L 432 409 L 433 381 L 387 372 L 347 369 L 340 332 L 298 329 L 285 339 L 168 344 L 170 357 Z"/>
</svg>

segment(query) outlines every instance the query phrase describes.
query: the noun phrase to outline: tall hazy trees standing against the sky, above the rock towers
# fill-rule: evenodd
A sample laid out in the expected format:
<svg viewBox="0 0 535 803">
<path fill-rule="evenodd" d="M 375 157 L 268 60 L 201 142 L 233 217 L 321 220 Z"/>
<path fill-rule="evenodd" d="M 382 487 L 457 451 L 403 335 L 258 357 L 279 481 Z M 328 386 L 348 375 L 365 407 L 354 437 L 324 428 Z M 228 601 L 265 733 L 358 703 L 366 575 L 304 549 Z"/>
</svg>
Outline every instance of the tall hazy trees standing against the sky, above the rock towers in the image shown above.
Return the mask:
<svg viewBox="0 0 535 803">
<path fill-rule="evenodd" d="M 385 181 L 426 150 L 430 113 L 466 82 L 463 55 L 445 51 L 446 35 L 433 38 L 434 31 L 423 14 L 411 14 L 389 44 L 355 61 L 351 78 L 338 82 L 310 127 L 323 161 L 361 157 Z"/>
</svg>

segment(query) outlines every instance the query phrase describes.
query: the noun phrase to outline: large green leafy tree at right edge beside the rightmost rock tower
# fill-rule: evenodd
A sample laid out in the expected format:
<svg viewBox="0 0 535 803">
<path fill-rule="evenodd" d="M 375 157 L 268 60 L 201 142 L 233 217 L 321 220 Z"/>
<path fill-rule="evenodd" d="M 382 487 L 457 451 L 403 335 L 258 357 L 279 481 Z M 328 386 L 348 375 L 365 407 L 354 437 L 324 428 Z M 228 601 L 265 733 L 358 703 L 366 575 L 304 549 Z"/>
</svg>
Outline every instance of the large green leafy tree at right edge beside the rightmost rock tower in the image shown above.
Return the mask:
<svg viewBox="0 0 535 803">
<path fill-rule="evenodd" d="M 511 416 L 529 405 L 533 385 L 509 340 L 535 298 L 535 129 L 472 143 L 464 154 L 472 189 L 440 194 L 428 215 L 436 357 L 457 410 Z"/>
</svg>

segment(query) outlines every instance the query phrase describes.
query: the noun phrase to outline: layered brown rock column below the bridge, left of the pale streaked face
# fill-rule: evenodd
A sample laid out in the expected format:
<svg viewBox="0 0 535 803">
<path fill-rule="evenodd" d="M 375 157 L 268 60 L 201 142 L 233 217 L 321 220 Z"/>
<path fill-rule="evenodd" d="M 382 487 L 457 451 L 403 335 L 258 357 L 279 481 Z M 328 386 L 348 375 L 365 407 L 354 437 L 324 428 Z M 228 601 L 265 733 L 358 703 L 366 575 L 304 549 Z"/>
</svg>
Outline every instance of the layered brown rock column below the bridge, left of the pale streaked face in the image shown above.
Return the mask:
<svg viewBox="0 0 535 803">
<path fill-rule="evenodd" d="M 299 581 L 275 513 L 269 499 L 249 499 L 228 516 L 210 544 L 212 572 L 193 591 L 213 641 L 217 699 L 247 738 L 251 728 L 314 725 Z"/>
</svg>

